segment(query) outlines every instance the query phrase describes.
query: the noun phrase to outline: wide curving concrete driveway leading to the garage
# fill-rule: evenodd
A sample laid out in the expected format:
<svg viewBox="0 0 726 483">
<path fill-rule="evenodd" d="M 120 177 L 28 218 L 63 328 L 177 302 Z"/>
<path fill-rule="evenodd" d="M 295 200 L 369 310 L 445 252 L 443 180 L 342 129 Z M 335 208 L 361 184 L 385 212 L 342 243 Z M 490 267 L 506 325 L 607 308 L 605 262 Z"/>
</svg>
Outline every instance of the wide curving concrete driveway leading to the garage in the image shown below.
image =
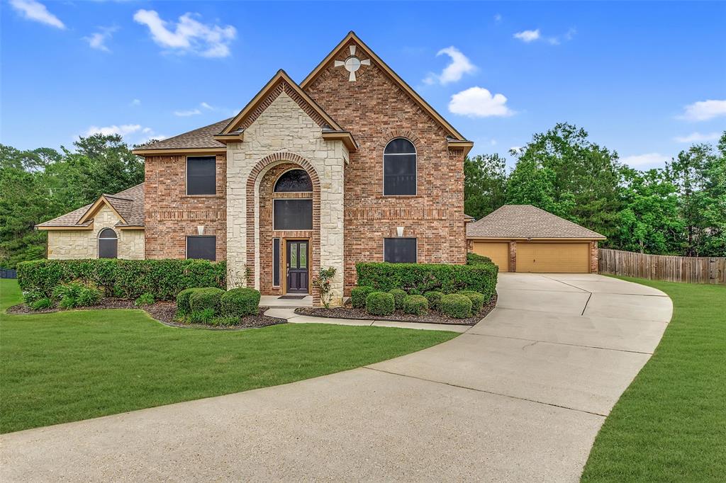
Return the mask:
<svg viewBox="0 0 726 483">
<path fill-rule="evenodd" d="M 0 479 L 576 481 L 658 344 L 662 292 L 500 276 L 460 337 L 353 371 L 0 437 Z"/>
</svg>

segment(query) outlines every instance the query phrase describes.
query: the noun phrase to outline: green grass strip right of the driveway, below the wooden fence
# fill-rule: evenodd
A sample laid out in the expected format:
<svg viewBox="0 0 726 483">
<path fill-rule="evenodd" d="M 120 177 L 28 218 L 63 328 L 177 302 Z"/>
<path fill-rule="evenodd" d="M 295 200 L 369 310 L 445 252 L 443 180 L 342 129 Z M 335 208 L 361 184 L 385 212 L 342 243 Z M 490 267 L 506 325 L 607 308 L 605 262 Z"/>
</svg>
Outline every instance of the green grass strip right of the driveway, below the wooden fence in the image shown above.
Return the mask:
<svg viewBox="0 0 726 483">
<path fill-rule="evenodd" d="M 661 289 L 673 318 L 605 420 L 583 482 L 726 478 L 726 286 L 624 278 Z"/>
</svg>

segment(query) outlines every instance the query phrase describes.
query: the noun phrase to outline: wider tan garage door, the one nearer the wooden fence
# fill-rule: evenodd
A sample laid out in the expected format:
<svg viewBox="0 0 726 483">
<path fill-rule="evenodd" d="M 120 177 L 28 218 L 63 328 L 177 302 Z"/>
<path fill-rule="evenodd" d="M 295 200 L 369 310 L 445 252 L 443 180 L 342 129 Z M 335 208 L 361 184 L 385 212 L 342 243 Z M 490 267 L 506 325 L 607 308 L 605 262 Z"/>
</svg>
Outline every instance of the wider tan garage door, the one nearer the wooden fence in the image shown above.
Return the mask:
<svg viewBox="0 0 726 483">
<path fill-rule="evenodd" d="M 534 273 L 590 272 L 588 243 L 517 243 L 517 271 Z"/>
</svg>

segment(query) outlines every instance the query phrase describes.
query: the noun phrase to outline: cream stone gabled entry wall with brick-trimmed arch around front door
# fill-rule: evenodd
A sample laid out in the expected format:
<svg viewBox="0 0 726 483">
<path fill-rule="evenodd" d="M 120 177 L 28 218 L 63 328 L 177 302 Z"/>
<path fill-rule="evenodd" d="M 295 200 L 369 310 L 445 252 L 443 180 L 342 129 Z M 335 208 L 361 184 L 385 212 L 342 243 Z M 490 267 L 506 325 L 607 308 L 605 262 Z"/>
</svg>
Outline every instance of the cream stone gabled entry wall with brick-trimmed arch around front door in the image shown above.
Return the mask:
<svg viewBox="0 0 726 483">
<path fill-rule="evenodd" d="M 343 166 L 348 159 L 348 150 L 342 141 L 322 139 L 320 125 L 282 89 L 275 90 L 264 104 L 266 109 L 245 128 L 244 141 L 227 144 L 228 284 L 245 280 L 246 268 L 253 286 L 265 289 L 261 286 L 261 259 L 272 256 L 265 255 L 267 250 L 272 251 L 272 244 L 260 242 L 260 183 L 274 166 L 290 161 L 301 165 L 304 160 L 315 172 L 310 173 L 308 169 L 311 178 L 319 179 L 320 241 L 317 246 L 313 241 L 312 246 L 313 262 L 316 261 L 315 250 L 319 250 L 319 262 L 312 270 L 338 268 L 331 292 L 333 303 L 340 303 L 343 295 Z M 253 206 L 248 207 L 250 180 Z M 248 228 L 251 236 L 248 236 Z M 248 253 L 253 255 L 250 259 Z"/>
</svg>

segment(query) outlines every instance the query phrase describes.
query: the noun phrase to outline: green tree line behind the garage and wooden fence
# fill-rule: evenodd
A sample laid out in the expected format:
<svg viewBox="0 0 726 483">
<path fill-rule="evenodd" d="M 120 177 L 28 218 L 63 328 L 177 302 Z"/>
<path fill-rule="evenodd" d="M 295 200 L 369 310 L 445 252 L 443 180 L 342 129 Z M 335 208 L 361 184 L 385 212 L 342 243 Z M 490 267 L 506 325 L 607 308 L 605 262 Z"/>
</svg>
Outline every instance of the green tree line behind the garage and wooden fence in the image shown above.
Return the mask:
<svg viewBox="0 0 726 483">
<path fill-rule="evenodd" d="M 607 236 L 600 246 L 689 257 L 726 256 L 726 131 L 694 144 L 664 168 L 637 170 L 558 123 L 510 150 L 464 162 L 464 210 L 476 219 L 502 205 L 534 205 Z"/>
</svg>

